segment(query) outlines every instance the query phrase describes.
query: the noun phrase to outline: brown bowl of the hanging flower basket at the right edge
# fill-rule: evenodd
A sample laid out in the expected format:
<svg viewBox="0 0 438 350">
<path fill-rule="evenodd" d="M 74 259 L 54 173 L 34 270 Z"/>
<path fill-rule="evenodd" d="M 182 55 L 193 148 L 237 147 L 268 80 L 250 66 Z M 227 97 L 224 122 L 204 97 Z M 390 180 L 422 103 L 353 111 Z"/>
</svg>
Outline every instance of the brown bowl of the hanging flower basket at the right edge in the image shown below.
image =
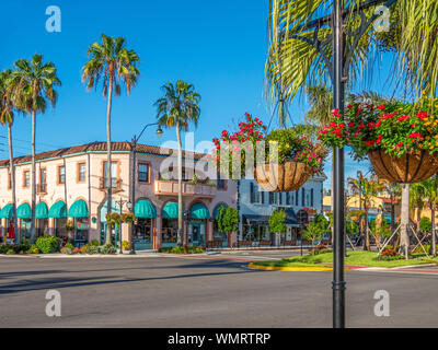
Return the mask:
<svg viewBox="0 0 438 350">
<path fill-rule="evenodd" d="M 397 158 L 376 149 L 368 156 L 379 177 L 392 183 L 420 183 L 438 173 L 437 153 L 412 151 Z"/>
</svg>

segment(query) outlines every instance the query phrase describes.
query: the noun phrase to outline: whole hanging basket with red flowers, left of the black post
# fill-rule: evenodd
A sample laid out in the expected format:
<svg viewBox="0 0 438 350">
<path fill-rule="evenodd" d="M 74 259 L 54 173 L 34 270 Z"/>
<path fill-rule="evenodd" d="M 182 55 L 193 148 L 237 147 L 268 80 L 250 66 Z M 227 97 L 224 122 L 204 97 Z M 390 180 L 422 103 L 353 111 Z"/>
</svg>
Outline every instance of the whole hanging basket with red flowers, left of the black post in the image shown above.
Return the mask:
<svg viewBox="0 0 438 350">
<path fill-rule="evenodd" d="M 291 191 L 300 188 L 310 176 L 322 171 L 326 148 L 301 137 L 295 128 L 266 132 L 258 118 L 245 114 L 239 130 L 223 130 L 212 141 L 212 162 L 232 179 L 254 175 L 268 191 Z M 221 160 L 226 154 L 227 159 Z"/>
</svg>

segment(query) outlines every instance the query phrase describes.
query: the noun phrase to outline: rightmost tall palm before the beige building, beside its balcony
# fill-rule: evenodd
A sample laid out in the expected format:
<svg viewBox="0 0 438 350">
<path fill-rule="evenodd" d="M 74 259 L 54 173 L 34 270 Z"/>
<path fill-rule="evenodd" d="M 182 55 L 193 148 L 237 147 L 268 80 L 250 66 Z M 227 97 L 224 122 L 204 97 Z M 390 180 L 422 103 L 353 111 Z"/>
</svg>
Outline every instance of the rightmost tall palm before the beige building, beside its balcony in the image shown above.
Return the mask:
<svg viewBox="0 0 438 350">
<path fill-rule="evenodd" d="M 200 115 L 200 95 L 195 92 L 192 84 L 178 80 L 176 84 L 168 82 L 161 88 L 164 96 L 159 98 L 157 106 L 157 119 L 160 126 L 176 129 L 178 145 L 177 154 L 177 182 L 178 182 L 178 230 L 177 244 L 182 245 L 183 232 L 183 155 L 180 131 L 187 130 L 188 124 L 193 122 L 197 127 Z"/>
</svg>

